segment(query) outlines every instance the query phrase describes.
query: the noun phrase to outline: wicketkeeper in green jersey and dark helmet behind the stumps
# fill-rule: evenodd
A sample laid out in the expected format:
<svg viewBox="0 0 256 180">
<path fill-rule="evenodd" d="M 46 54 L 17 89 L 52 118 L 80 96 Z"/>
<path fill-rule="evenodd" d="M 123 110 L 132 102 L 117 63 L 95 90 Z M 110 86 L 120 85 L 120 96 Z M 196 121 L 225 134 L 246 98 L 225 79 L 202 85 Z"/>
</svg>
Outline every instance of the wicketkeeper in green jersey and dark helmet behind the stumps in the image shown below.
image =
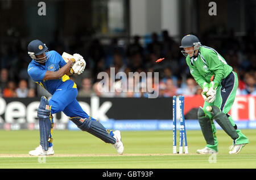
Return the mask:
<svg viewBox="0 0 256 180">
<path fill-rule="evenodd" d="M 207 145 L 204 149 L 198 149 L 197 153 L 218 153 L 213 119 L 233 139 L 229 154 L 239 153 L 249 140 L 228 114 L 236 97 L 237 73 L 233 72 L 233 68 L 217 51 L 201 45 L 194 35 L 184 36 L 180 48 L 184 48 L 181 52 L 186 57 L 192 76 L 203 89 L 202 96 L 205 101 L 204 107 L 199 107 L 197 114 Z"/>
</svg>

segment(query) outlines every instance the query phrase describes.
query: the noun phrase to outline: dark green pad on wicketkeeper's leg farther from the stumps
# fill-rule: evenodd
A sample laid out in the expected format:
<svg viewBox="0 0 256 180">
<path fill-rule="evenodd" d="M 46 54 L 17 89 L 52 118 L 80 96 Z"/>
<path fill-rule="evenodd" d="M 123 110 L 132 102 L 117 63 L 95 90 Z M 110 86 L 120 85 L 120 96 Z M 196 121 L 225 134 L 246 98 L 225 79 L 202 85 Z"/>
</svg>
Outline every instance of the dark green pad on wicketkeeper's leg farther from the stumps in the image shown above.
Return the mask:
<svg viewBox="0 0 256 180">
<path fill-rule="evenodd" d="M 216 120 L 218 125 L 232 138 L 237 139 L 238 134 L 236 132 L 235 127 L 230 123 L 230 120 L 224 112 L 221 112 L 220 108 L 217 106 L 212 106 L 212 112 L 210 112 L 213 116 L 213 119 Z"/>
</svg>

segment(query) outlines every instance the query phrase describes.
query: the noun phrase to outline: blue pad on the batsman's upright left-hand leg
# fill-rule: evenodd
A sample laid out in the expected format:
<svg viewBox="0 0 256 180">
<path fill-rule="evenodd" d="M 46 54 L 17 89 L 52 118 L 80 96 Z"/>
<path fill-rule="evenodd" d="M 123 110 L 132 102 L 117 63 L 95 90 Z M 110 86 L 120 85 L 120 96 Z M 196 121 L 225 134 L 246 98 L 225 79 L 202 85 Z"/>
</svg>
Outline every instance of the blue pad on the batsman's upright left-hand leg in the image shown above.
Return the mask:
<svg viewBox="0 0 256 180">
<path fill-rule="evenodd" d="M 49 143 L 52 143 L 51 130 L 53 128 L 51 108 L 46 97 L 42 97 L 38 107 L 40 145 L 48 150 Z"/>
</svg>

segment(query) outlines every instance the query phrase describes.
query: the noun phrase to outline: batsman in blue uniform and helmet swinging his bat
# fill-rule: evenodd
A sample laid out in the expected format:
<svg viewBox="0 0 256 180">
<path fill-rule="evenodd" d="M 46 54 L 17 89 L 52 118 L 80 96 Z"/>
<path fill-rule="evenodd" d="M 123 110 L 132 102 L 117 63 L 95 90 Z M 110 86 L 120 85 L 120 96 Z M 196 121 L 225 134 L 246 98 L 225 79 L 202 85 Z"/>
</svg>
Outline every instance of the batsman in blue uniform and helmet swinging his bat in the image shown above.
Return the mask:
<svg viewBox="0 0 256 180">
<path fill-rule="evenodd" d="M 32 61 L 28 65 L 27 72 L 31 79 L 52 94 L 48 101 L 42 97 L 38 108 L 40 145 L 29 152 L 32 156 L 46 156 L 54 154 L 52 144 L 53 116 L 63 111 L 70 120 L 82 131 L 110 143 L 117 149 L 118 154 L 123 154 L 123 143 L 120 131 L 110 131 L 90 117 L 77 102 L 77 87 L 69 75 L 81 74 L 86 62 L 79 54 L 74 54 L 68 62 L 56 51 L 48 51 L 48 48 L 40 40 L 33 40 L 28 44 L 28 55 Z"/>
</svg>

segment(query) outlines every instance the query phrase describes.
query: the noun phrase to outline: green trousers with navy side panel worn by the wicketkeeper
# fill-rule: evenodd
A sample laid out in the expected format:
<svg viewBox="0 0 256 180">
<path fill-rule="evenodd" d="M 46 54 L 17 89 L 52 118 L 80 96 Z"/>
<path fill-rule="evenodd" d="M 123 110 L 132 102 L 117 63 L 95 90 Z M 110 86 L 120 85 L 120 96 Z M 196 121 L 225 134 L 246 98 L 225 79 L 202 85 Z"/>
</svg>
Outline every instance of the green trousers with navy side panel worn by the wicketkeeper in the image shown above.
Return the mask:
<svg viewBox="0 0 256 180">
<path fill-rule="evenodd" d="M 212 123 L 212 133 L 213 133 L 213 137 L 214 137 L 214 145 L 210 145 L 207 144 L 208 148 L 214 149 L 218 152 L 218 141 L 217 141 L 217 137 L 216 137 L 216 127 L 213 123 L 213 118 L 212 115 L 210 114 L 210 112 L 208 112 L 207 110 L 205 110 L 205 108 L 207 106 L 217 106 L 218 108 L 220 108 L 220 110 L 222 112 L 224 112 L 224 114 L 228 114 L 230 108 L 232 107 L 233 103 L 234 103 L 234 99 L 236 98 L 236 91 L 237 91 L 237 87 L 238 87 L 238 78 L 237 78 L 237 73 L 235 72 L 231 72 L 229 74 L 229 76 L 227 76 L 225 79 L 223 79 L 220 83 L 220 85 L 217 87 L 216 90 L 216 99 L 213 103 L 208 103 L 205 102 L 204 103 L 204 107 L 203 110 L 205 112 L 205 114 L 210 118 L 210 121 Z M 234 124 L 234 121 L 232 119 L 232 116 L 229 116 L 229 120 L 230 123 L 235 127 L 236 124 Z M 240 129 L 236 129 L 239 137 L 236 139 L 235 142 L 233 142 L 233 144 L 243 144 L 243 143 L 249 143 L 249 140 L 247 139 L 247 137 L 245 135 L 243 135 L 243 133 L 241 132 Z"/>
</svg>

